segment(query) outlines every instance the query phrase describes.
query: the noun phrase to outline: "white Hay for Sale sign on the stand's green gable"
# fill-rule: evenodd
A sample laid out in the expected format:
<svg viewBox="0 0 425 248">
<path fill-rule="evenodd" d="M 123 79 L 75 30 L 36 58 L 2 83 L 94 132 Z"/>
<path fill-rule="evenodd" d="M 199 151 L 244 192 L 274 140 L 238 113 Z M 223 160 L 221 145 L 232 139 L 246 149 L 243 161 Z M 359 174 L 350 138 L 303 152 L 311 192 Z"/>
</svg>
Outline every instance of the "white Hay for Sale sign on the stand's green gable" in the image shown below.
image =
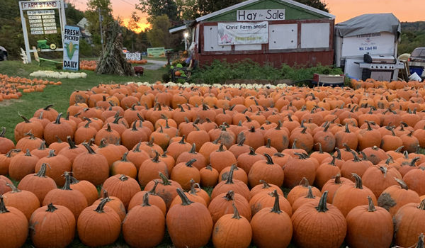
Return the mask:
<svg viewBox="0 0 425 248">
<path fill-rule="evenodd" d="M 285 9 L 238 9 L 237 21 L 280 21 L 285 20 Z"/>
</svg>

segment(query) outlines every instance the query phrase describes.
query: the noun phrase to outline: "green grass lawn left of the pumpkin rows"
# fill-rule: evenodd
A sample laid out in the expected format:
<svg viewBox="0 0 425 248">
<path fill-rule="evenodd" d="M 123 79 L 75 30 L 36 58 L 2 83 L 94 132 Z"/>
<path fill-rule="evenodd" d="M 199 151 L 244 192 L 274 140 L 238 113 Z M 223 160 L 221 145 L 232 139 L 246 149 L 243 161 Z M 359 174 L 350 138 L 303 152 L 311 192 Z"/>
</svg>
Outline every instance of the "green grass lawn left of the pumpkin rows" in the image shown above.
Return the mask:
<svg viewBox="0 0 425 248">
<path fill-rule="evenodd" d="M 13 77 L 28 77 L 31 72 L 37 70 L 55 70 L 52 64 L 45 64 L 39 67 L 38 64 L 22 64 L 20 61 L 4 61 L 0 62 L 0 73 Z M 58 112 L 66 113 L 69 106 L 69 96 L 75 90 L 91 89 L 98 84 L 123 84 L 128 81 L 149 81 L 154 82 L 162 80 L 162 74 L 166 73 L 166 69 L 145 70 L 142 77 L 123 77 L 115 75 L 98 75 L 91 71 L 86 72 L 86 79 L 48 79 L 51 81 L 62 81 L 61 86 L 47 86 L 44 92 L 33 92 L 23 94 L 16 100 L 7 100 L 0 102 L 0 127 L 6 127 L 6 137 L 13 140 L 13 130 L 15 125 L 22 121 L 18 116 L 18 112 L 26 117 L 33 117 L 38 108 L 43 108 L 49 104 L 54 104 Z"/>
</svg>

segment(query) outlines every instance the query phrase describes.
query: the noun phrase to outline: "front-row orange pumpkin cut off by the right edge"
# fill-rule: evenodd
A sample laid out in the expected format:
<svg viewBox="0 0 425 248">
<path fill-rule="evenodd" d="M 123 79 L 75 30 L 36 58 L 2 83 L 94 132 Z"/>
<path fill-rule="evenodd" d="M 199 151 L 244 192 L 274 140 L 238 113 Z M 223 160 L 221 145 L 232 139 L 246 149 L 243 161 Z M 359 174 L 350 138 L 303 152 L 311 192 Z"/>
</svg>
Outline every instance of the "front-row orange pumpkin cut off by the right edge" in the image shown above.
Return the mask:
<svg viewBox="0 0 425 248">
<path fill-rule="evenodd" d="M 395 244 L 412 247 L 417 237 L 424 232 L 425 200 L 421 203 L 407 203 L 394 215 Z"/>
</svg>

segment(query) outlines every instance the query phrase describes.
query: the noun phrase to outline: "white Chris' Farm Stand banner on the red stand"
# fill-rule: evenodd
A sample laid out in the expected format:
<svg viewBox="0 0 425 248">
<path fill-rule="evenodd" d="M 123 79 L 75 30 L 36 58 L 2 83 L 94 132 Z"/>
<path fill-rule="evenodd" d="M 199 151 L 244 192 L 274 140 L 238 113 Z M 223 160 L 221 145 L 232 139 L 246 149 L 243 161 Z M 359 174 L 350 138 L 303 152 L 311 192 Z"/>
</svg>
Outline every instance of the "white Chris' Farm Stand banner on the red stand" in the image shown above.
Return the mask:
<svg viewBox="0 0 425 248">
<path fill-rule="evenodd" d="M 258 23 L 217 23 L 219 45 L 268 43 L 268 21 Z"/>
</svg>

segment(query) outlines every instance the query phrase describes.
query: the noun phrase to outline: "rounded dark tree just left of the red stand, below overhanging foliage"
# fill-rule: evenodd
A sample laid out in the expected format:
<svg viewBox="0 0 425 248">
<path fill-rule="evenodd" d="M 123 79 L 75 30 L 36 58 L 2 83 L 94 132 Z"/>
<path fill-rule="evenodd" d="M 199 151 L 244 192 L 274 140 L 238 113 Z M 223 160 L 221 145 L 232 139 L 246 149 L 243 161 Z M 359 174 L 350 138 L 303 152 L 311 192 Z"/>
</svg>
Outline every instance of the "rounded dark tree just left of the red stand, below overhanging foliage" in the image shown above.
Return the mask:
<svg viewBox="0 0 425 248">
<path fill-rule="evenodd" d="M 150 22 L 152 28 L 147 31 L 147 40 L 151 43 L 152 47 L 174 47 L 178 45 L 180 40 L 176 38 L 176 35 L 169 33 L 171 23 L 168 16 L 162 15 L 152 18 Z M 177 36 L 178 37 L 178 36 Z"/>
</svg>

